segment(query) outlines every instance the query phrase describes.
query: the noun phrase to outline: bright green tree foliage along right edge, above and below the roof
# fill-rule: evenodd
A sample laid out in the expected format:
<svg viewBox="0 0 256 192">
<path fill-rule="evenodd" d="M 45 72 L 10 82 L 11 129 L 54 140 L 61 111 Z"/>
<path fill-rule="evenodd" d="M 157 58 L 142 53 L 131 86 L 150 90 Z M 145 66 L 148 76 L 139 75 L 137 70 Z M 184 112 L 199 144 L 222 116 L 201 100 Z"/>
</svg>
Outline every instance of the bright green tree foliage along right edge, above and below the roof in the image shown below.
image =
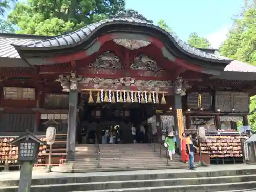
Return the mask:
<svg viewBox="0 0 256 192">
<path fill-rule="evenodd" d="M 256 66 L 256 1 L 245 1 L 245 9 L 234 19 L 220 53 L 231 59 Z M 256 96 L 250 98 L 249 124 L 256 130 Z"/>
</svg>

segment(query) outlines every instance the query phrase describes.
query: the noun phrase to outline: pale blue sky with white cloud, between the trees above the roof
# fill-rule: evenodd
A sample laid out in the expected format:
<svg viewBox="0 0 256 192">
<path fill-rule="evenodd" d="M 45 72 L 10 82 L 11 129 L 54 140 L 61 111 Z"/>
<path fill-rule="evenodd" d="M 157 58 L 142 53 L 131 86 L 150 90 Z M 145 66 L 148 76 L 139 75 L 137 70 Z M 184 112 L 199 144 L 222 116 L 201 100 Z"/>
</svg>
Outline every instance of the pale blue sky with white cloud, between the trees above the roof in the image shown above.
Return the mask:
<svg viewBox="0 0 256 192">
<path fill-rule="evenodd" d="M 183 40 L 191 32 L 207 37 L 217 47 L 232 25 L 232 18 L 242 10 L 243 0 L 126 0 L 134 9 L 157 23 L 164 19 Z"/>
</svg>

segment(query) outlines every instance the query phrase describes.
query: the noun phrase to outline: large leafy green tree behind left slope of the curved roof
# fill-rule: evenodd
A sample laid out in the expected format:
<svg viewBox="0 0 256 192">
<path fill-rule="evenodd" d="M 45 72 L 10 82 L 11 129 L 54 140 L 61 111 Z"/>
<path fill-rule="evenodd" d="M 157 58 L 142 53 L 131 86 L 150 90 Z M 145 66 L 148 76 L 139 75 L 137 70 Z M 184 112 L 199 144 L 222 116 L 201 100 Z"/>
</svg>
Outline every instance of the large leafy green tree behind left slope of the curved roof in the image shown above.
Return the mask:
<svg viewBox="0 0 256 192">
<path fill-rule="evenodd" d="M 17 33 L 60 35 L 124 10 L 125 0 L 27 0 L 16 4 L 8 19 Z"/>
</svg>

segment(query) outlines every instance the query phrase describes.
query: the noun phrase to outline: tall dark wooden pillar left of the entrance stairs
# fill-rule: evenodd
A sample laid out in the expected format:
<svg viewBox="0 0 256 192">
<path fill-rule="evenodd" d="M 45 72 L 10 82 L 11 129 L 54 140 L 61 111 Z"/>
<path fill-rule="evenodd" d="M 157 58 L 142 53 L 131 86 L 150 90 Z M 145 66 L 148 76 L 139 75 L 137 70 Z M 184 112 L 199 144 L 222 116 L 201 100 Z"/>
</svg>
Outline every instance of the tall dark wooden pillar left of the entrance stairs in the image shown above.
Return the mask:
<svg viewBox="0 0 256 192">
<path fill-rule="evenodd" d="M 76 144 L 76 121 L 77 121 L 77 102 L 78 91 L 77 89 L 70 89 L 69 91 L 69 114 L 68 114 L 68 132 L 66 153 L 67 161 L 75 160 L 75 144 Z"/>
</svg>

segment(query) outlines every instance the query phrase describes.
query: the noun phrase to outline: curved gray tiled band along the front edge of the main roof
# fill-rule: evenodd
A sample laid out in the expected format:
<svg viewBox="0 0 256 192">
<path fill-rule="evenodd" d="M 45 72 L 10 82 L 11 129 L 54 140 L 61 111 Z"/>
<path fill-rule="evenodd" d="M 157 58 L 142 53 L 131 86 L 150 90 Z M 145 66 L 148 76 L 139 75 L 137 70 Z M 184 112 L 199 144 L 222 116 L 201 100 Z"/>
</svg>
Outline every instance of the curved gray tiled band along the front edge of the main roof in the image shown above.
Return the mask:
<svg viewBox="0 0 256 192">
<path fill-rule="evenodd" d="M 152 23 L 148 23 L 145 20 L 141 20 L 134 17 L 120 17 L 120 18 L 111 18 L 111 19 L 105 19 L 101 20 L 100 22 L 96 22 L 94 24 L 90 24 L 88 26 L 85 26 L 77 31 L 71 32 L 69 34 L 56 36 L 54 38 L 41 40 L 41 41 L 35 41 L 32 42 L 32 44 L 26 44 L 26 45 L 18 45 L 18 47 L 34 47 L 34 48 L 46 48 L 46 47 L 65 47 L 65 46 L 71 46 L 72 44 L 75 44 L 76 42 L 79 42 L 81 40 L 87 39 L 87 37 L 96 31 L 98 27 L 102 27 L 103 25 L 107 24 L 133 24 L 133 25 L 140 25 L 140 26 L 147 26 L 156 28 L 158 30 L 161 30 L 163 33 L 166 33 L 169 38 L 175 43 L 177 48 L 181 49 L 181 51 L 184 51 L 186 54 L 191 54 L 191 56 L 197 56 L 199 58 L 203 59 L 210 59 L 210 60 L 218 60 L 218 61 L 231 61 L 231 59 L 219 57 L 215 54 L 206 53 L 204 51 L 201 51 L 193 46 L 190 46 L 183 40 L 179 39 L 176 35 L 168 34 L 163 29 L 159 28 L 158 26 L 153 25 Z M 15 44 L 15 43 L 14 43 Z"/>
</svg>

